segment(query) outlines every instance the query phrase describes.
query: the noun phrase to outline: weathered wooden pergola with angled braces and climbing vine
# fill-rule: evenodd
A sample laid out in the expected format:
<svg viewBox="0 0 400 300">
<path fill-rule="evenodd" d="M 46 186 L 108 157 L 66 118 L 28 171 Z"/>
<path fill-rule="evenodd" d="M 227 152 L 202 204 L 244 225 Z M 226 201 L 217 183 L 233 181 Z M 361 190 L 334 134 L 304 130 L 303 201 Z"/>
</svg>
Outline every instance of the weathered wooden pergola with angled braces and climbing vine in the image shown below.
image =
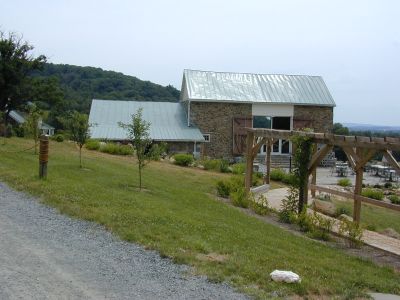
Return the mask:
<svg viewBox="0 0 400 300">
<path fill-rule="evenodd" d="M 385 137 L 364 137 L 364 136 L 344 136 L 334 135 L 330 133 L 314 133 L 304 131 L 288 131 L 288 130 L 274 130 L 274 129 L 259 129 L 259 128 L 246 128 L 247 140 L 246 140 L 246 179 L 245 187 L 246 191 L 250 192 L 252 175 L 253 175 L 253 163 L 260 148 L 266 145 L 266 176 L 265 183 L 269 183 L 270 171 L 271 171 L 271 148 L 275 141 L 279 139 L 290 139 L 294 135 L 307 136 L 310 140 L 321 148 L 315 150 L 313 156 L 308 165 L 308 177 L 312 175 L 311 182 L 307 180 L 304 187 L 304 199 L 307 204 L 308 191 L 311 189 L 312 196 L 315 196 L 315 191 L 323 191 L 342 197 L 354 199 L 354 210 L 353 220 L 360 222 L 361 213 L 361 202 L 367 202 L 378 206 L 394 209 L 400 211 L 399 205 L 393 205 L 385 203 L 383 201 L 377 201 L 370 198 L 361 196 L 362 192 L 362 181 L 364 167 L 366 163 L 371 160 L 378 152 L 381 152 L 386 158 L 387 162 L 400 173 L 400 165 L 392 155 L 392 151 L 400 150 L 400 139 Z M 316 185 L 316 169 L 325 156 L 332 151 L 334 146 L 339 146 L 345 152 L 349 163 L 356 174 L 354 193 L 341 192 L 325 187 Z M 314 147 L 315 149 L 317 147 Z"/>
</svg>

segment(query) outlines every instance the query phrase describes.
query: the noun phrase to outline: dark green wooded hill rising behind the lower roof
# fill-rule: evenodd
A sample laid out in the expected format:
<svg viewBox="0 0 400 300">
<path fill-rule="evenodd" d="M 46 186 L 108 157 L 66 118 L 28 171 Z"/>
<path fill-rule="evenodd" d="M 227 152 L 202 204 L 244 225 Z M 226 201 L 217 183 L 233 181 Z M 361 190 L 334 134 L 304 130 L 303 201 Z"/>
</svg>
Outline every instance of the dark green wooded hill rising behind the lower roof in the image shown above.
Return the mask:
<svg viewBox="0 0 400 300">
<path fill-rule="evenodd" d="M 47 63 L 34 76 L 56 77 L 64 92 L 67 110 L 88 113 L 92 99 L 179 101 L 180 92 L 171 85 L 162 86 L 101 68 Z"/>
</svg>

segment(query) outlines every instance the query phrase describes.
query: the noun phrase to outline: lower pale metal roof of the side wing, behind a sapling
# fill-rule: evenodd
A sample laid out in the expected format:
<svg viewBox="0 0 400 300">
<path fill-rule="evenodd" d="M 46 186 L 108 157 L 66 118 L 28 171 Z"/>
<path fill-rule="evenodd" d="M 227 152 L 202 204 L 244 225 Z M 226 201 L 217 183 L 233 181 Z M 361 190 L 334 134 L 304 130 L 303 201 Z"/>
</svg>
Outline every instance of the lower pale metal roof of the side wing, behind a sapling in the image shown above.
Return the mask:
<svg viewBox="0 0 400 300">
<path fill-rule="evenodd" d="M 157 141 L 204 142 L 197 127 L 188 127 L 181 103 L 93 99 L 89 123 L 94 139 L 125 140 L 127 132 L 118 122 L 130 124 L 132 114 L 143 108 L 143 119 L 150 122 L 150 138 Z"/>
</svg>

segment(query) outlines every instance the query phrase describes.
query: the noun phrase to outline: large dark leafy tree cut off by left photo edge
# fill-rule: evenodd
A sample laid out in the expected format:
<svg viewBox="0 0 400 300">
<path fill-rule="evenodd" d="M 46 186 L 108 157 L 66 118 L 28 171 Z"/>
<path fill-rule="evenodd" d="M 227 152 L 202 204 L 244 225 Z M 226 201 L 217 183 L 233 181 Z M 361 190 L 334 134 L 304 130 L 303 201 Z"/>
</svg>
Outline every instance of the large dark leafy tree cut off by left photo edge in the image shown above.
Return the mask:
<svg viewBox="0 0 400 300">
<path fill-rule="evenodd" d="M 14 33 L 0 32 L 0 111 L 3 112 L 4 136 L 11 110 L 19 108 L 30 97 L 30 74 L 40 69 L 46 57 L 34 58 L 33 46 Z"/>
</svg>

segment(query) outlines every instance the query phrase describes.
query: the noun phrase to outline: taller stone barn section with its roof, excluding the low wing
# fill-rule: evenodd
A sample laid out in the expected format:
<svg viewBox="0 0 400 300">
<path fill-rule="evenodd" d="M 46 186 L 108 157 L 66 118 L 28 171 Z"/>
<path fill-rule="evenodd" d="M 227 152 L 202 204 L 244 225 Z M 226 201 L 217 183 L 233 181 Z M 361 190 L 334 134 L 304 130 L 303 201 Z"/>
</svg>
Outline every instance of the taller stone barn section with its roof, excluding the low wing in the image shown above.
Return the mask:
<svg viewBox="0 0 400 300">
<path fill-rule="evenodd" d="M 188 126 L 199 128 L 205 138 L 203 154 L 223 158 L 244 152 L 244 127 L 330 132 L 335 107 L 320 76 L 195 70 L 184 70 L 181 103 Z M 290 152 L 289 141 L 273 146 L 275 156 Z"/>
</svg>

